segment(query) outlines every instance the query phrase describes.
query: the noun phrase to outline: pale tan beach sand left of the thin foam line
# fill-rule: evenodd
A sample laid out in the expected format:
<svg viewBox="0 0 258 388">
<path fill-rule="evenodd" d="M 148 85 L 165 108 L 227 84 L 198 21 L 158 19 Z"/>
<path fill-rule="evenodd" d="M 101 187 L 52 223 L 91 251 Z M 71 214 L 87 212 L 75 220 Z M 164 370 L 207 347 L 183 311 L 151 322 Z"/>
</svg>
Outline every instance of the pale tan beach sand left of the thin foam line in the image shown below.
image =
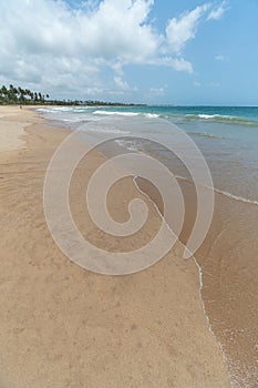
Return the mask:
<svg viewBox="0 0 258 388">
<path fill-rule="evenodd" d="M 8 129 L 0 142 L 0 387 L 229 387 L 203 312 L 198 268 L 182 259 L 179 244 L 128 276 L 96 275 L 71 263 L 48 231 L 42 202 L 48 163 L 68 131 L 45 126 L 25 109 L 1 108 L 0 115 Z M 102 162 L 95 153 L 79 169 L 71 207 L 82 233 L 117 251 L 121 241 L 96 231 L 80 205 L 82 171 L 87 178 Z M 135 195 L 131 178 L 114 188 L 114 217 L 124 219 Z M 124 249 L 157 229 L 159 216 L 148 206 L 148 223 L 122 242 Z"/>
</svg>

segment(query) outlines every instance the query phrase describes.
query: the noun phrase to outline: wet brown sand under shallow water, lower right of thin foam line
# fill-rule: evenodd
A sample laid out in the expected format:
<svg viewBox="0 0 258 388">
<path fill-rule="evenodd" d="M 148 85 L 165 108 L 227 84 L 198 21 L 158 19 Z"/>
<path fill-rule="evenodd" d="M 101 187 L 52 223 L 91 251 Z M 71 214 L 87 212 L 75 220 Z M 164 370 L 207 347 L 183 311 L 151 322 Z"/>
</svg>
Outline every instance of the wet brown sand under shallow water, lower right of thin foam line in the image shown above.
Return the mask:
<svg viewBox="0 0 258 388">
<path fill-rule="evenodd" d="M 196 216 L 194 185 L 178 180 L 186 205 L 180 241 L 187 239 Z M 163 212 L 158 193 L 144 180 L 140 187 Z M 210 229 L 195 258 L 202 267 L 202 298 L 220 344 L 230 382 L 258 386 L 258 206 L 215 194 Z"/>
</svg>

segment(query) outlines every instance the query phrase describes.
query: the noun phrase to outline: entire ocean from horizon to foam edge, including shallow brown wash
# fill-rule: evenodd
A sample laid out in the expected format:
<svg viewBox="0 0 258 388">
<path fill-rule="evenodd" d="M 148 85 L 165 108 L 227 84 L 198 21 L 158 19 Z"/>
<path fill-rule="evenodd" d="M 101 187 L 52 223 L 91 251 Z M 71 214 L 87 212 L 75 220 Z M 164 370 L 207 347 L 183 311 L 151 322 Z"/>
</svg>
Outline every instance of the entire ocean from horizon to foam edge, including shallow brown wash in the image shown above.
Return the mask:
<svg viewBox="0 0 258 388">
<path fill-rule="evenodd" d="M 110 147 L 115 154 L 141 152 L 165 164 L 180 181 L 187 202 L 183 243 L 193 224 L 196 193 L 184 163 L 164 146 L 173 145 L 173 135 L 163 122 L 176 124 L 195 142 L 215 188 L 213 222 L 195 254 L 202 268 L 204 310 L 223 349 L 231 386 L 257 387 L 258 108 L 133 105 L 39 111 L 54 125 L 78 129 L 87 142 L 93 136 L 99 141 L 116 137 Z"/>
</svg>

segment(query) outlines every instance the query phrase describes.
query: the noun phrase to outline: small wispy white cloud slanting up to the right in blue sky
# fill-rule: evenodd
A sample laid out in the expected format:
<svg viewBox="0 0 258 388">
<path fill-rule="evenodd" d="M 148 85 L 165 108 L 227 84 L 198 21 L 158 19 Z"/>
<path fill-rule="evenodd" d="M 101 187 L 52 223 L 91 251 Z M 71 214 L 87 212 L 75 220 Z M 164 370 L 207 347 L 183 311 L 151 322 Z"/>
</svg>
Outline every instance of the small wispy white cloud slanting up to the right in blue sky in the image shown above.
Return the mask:
<svg viewBox="0 0 258 388">
<path fill-rule="evenodd" d="M 168 50 L 179 53 L 185 44 L 195 38 L 200 18 L 210 8 L 210 4 L 196 7 L 193 11 L 186 12 L 178 19 L 168 21 L 166 37 Z"/>
</svg>

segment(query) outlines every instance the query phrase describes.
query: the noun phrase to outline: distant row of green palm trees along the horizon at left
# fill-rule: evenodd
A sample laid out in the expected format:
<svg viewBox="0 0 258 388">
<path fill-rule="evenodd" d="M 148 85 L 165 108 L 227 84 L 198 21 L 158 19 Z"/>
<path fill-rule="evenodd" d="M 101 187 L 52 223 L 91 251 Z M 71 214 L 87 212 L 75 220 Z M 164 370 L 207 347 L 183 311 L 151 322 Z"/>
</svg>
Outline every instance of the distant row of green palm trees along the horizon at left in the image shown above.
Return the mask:
<svg viewBox="0 0 258 388">
<path fill-rule="evenodd" d="M 14 105 L 121 105 L 133 106 L 135 104 L 124 104 L 120 102 L 103 102 L 92 100 L 50 100 L 49 94 L 42 94 L 41 92 L 32 92 L 29 89 L 16 88 L 12 84 L 7 88 L 2 85 L 0 88 L 0 105 L 14 104 Z M 141 105 L 141 104 L 137 104 Z"/>
</svg>

